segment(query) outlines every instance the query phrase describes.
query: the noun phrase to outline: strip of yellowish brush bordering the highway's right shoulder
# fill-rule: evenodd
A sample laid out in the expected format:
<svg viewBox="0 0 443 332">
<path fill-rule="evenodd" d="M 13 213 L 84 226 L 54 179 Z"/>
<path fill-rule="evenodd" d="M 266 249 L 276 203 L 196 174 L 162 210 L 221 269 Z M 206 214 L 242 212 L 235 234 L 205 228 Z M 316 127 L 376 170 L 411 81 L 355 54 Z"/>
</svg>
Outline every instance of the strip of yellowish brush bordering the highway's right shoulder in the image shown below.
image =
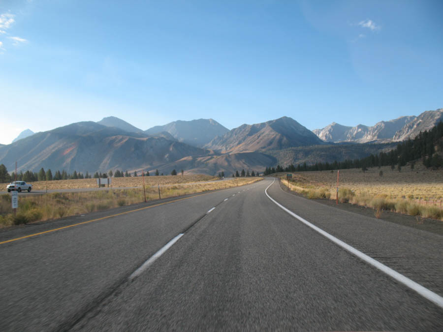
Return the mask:
<svg viewBox="0 0 443 332">
<path fill-rule="evenodd" d="M 309 199 L 336 199 L 336 187 L 331 188 L 313 182 L 302 183 L 299 180 L 295 178 L 294 181 L 289 181 L 291 191 Z M 285 187 L 288 186 L 288 181 L 283 177 L 280 177 L 280 181 Z M 413 199 L 392 198 L 387 194 L 374 195 L 370 192 L 356 192 L 347 187 L 339 187 L 338 201 L 372 208 L 377 218 L 380 218 L 382 211 L 392 211 L 443 221 L 443 209 L 437 205 L 423 205 Z"/>
</svg>

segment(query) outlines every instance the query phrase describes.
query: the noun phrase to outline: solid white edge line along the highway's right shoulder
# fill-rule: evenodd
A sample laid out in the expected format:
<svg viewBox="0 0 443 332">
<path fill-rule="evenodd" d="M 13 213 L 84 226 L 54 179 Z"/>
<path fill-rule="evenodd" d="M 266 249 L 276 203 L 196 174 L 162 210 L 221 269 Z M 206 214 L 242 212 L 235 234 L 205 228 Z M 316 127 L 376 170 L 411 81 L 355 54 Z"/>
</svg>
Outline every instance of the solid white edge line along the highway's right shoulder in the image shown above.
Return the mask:
<svg viewBox="0 0 443 332">
<path fill-rule="evenodd" d="M 438 306 L 440 306 L 441 308 L 443 308 L 443 298 L 430 291 L 429 289 L 427 289 L 426 287 L 423 287 L 422 285 L 416 283 L 415 281 L 411 280 L 410 278 L 404 276 L 403 274 L 392 270 L 391 268 L 387 267 L 384 264 L 381 264 L 379 261 L 375 260 L 372 257 L 369 257 L 368 255 L 362 253 L 361 251 L 355 249 L 354 247 L 351 247 L 348 243 L 345 243 L 339 239 L 337 239 L 336 237 L 330 235 L 329 233 L 326 233 L 325 231 L 323 231 L 322 229 L 318 228 L 317 226 L 311 224 L 309 221 L 303 219 L 302 217 L 298 216 L 297 214 L 295 214 L 292 211 L 289 211 L 288 209 L 286 209 L 283 205 L 281 205 L 280 203 L 278 203 L 277 201 L 275 201 L 271 196 L 269 196 L 268 194 L 268 188 L 274 184 L 275 182 L 275 178 L 274 181 L 272 181 L 272 183 L 270 185 L 268 185 L 268 187 L 265 189 L 265 194 L 266 196 L 268 196 L 268 198 L 273 201 L 277 206 L 279 206 L 280 208 L 282 208 L 284 211 L 286 211 L 287 213 L 289 213 L 290 215 L 292 215 L 293 217 L 297 218 L 298 220 L 300 220 L 301 222 L 303 222 L 305 225 L 311 227 L 312 229 L 314 229 L 316 232 L 320 233 L 321 235 L 323 235 L 324 237 L 328 238 L 329 240 L 335 242 L 336 244 L 340 245 L 342 248 L 344 248 L 345 250 L 348 250 L 350 253 L 354 254 L 355 256 L 357 256 L 358 258 L 362 259 L 363 261 L 365 261 L 366 263 L 372 265 L 373 267 L 379 269 L 381 272 L 386 273 L 387 275 L 389 275 L 390 277 L 394 278 L 395 280 L 401 282 L 402 284 L 404 284 L 405 286 L 411 288 L 413 291 L 417 292 L 418 294 L 420 294 L 421 296 L 423 296 L 424 298 L 428 299 L 431 302 L 434 302 L 435 304 L 437 304 Z"/>
</svg>

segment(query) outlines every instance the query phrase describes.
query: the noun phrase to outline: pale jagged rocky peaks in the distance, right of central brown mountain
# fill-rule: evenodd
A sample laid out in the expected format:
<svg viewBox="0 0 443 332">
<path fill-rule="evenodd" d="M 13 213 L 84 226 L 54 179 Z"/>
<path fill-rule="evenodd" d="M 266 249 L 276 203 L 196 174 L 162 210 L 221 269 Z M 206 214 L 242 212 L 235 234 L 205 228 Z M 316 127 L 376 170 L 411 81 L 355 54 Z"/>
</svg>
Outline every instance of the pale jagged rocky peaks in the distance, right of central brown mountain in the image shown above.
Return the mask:
<svg viewBox="0 0 443 332">
<path fill-rule="evenodd" d="M 407 116 L 391 121 L 380 121 L 372 127 L 363 124 L 349 127 L 332 122 L 323 129 L 315 129 L 313 132 L 325 142 L 367 143 L 373 141 L 392 141 L 396 132 L 415 118 L 415 116 Z"/>
</svg>

